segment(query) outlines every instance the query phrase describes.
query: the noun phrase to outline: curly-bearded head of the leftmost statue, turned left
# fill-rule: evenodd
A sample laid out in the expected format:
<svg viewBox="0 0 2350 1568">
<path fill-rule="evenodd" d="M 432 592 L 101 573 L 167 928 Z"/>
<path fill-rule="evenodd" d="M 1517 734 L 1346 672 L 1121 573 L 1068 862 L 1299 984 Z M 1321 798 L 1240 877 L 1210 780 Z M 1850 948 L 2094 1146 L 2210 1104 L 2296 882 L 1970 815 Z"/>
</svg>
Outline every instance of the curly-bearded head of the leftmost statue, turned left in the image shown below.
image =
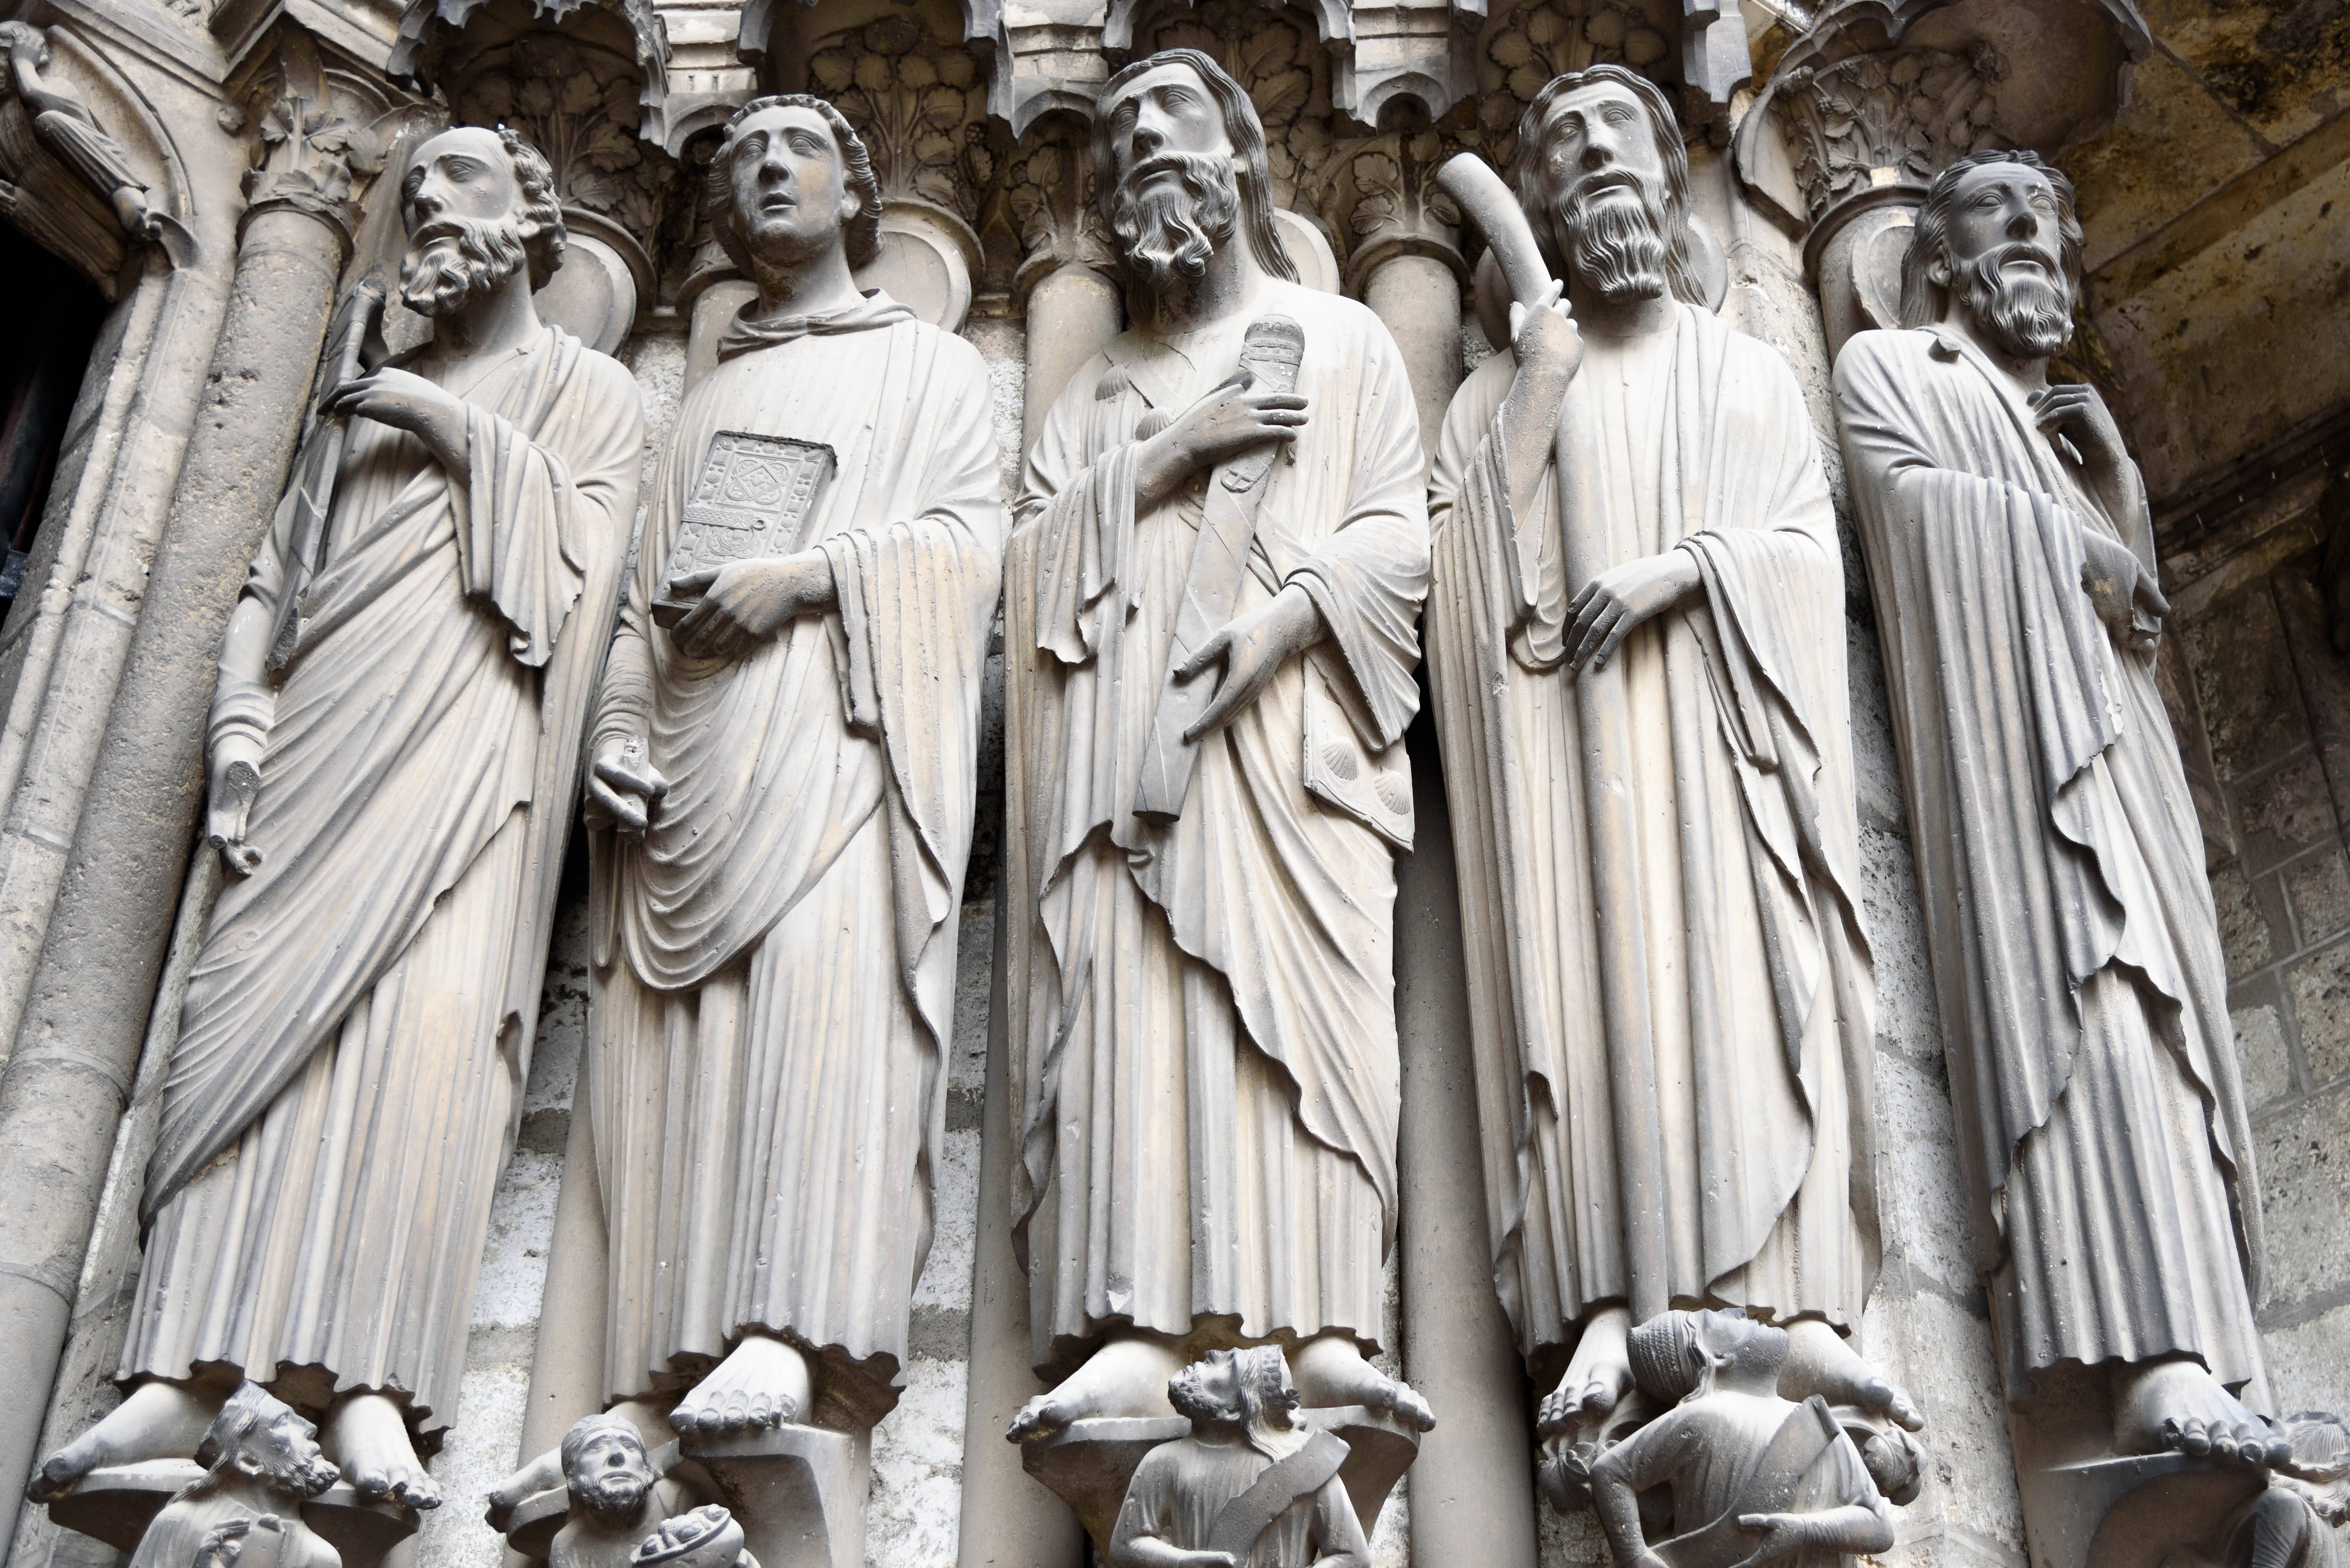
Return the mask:
<svg viewBox="0 0 2350 1568">
<path fill-rule="evenodd" d="M 461 124 L 416 148 L 400 181 L 409 254 L 400 298 L 444 317 L 524 265 L 545 289 L 564 265 L 564 204 L 545 155 L 508 129 Z"/>
</svg>

